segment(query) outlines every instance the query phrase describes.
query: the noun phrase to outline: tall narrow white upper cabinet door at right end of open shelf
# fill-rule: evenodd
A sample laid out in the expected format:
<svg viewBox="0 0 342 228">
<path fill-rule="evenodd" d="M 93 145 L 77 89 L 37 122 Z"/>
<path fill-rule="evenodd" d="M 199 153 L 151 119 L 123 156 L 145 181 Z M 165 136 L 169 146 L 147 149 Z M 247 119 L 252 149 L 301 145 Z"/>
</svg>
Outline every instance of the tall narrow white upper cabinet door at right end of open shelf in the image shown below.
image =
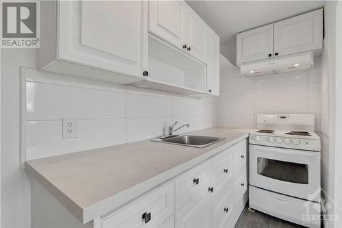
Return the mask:
<svg viewBox="0 0 342 228">
<path fill-rule="evenodd" d="M 220 95 L 220 36 L 208 28 L 207 93 Z"/>
</svg>

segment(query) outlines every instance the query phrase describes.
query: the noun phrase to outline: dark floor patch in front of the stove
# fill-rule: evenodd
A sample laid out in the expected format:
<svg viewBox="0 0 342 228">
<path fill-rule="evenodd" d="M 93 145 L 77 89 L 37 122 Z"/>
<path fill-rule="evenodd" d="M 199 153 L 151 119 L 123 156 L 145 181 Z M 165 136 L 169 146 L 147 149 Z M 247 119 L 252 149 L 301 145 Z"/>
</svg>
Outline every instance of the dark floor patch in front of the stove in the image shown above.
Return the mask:
<svg viewBox="0 0 342 228">
<path fill-rule="evenodd" d="M 257 210 L 252 212 L 248 210 L 248 203 L 242 212 L 239 220 L 237 220 L 237 224 L 235 228 L 295 228 L 302 227 L 297 224 L 289 223 L 280 218 L 275 218 L 273 216 L 269 216 L 268 214 L 264 214 L 262 212 L 258 212 Z"/>
</svg>

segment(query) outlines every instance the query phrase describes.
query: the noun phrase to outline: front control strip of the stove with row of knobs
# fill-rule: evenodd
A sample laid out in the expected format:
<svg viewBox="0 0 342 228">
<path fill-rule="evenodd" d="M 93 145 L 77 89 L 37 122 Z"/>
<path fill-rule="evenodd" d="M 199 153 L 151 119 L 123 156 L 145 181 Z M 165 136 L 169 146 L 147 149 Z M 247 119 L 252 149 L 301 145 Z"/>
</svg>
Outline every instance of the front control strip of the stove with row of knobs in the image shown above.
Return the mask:
<svg viewBox="0 0 342 228">
<path fill-rule="evenodd" d="M 310 140 L 303 138 L 288 138 L 274 136 L 250 135 L 250 144 L 261 146 L 282 147 L 289 149 L 302 149 L 306 151 L 321 151 L 320 140 Z"/>
</svg>

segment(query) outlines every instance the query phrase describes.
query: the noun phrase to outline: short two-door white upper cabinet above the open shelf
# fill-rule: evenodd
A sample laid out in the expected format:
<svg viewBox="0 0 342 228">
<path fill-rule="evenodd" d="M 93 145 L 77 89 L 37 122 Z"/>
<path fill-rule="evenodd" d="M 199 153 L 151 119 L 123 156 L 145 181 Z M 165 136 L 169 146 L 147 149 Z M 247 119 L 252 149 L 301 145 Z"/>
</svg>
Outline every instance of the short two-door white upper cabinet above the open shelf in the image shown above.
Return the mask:
<svg viewBox="0 0 342 228">
<path fill-rule="evenodd" d="M 148 32 L 207 63 L 207 24 L 184 1 L 148 1 Z"/>
</svg>

